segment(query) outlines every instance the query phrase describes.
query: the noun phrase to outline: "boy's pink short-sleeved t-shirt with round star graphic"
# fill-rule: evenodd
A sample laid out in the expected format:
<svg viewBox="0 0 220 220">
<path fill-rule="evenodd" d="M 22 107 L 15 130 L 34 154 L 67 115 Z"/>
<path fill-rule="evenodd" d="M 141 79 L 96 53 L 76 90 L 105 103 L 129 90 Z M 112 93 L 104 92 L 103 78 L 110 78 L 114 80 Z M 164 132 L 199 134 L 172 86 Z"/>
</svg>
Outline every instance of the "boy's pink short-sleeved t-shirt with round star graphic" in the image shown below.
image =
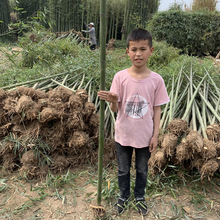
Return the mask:
<svg viewBox="0 0 220 220">
<path fill-rule="evenodd" d="M 115 74 L 111 92 L 118 94 L 115 141 L 122 146 L 148 147 L 153 136 L 153 106 L 170 101 L 163 78 L 155 73 L 142 80 L 127 69 Z"/>
</svg>

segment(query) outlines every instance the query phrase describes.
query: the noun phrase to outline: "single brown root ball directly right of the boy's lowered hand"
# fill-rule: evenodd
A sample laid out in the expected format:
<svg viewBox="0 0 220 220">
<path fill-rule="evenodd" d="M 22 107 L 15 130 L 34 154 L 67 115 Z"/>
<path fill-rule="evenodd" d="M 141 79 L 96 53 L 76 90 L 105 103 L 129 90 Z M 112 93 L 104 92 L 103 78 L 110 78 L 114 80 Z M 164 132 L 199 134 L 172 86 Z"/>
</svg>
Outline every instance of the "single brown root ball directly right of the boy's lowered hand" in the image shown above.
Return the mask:
<svg viewBox="0 0 220 220">
<path fill-rule="evenodd" d="M 178 137 L 172 133 L 164 135 L 161 148 L 164 149 L 166 156 L 173 156 L 177 146 Z"/>
</svg>

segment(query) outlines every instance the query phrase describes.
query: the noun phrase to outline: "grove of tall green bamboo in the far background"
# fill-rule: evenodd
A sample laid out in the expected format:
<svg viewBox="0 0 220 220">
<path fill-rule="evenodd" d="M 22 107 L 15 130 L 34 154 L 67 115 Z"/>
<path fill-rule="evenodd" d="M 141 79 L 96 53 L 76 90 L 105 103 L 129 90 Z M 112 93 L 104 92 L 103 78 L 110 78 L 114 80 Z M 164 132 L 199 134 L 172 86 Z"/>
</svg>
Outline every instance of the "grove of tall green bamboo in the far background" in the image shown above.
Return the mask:
<svg viewBox="0 0 220 220">
<path fill-rule="evenodd" d="M 11 10 L 0 7 L 0 15 L 17 11 L 20 20 L 31 17 L 38 10 L 45 13 L 52 24 L 53 32 L 85 29 L 84 22 L 94 22 L 99 38 L 100 0 L 3 0 L 11 5 Z M 107 40 L 123 39 L 135 27 L 145 27 L 152 14 L 158 11 L 159 0 L 108 0 Z M 3 3 L 4 5 L 4 3 Z M 8 15 L 7 15 L 8 16 Z M 7 23 L 7 20 L 4 19 Z M 0 31 L 0 34 L 3 31 Z"/>
</svg>

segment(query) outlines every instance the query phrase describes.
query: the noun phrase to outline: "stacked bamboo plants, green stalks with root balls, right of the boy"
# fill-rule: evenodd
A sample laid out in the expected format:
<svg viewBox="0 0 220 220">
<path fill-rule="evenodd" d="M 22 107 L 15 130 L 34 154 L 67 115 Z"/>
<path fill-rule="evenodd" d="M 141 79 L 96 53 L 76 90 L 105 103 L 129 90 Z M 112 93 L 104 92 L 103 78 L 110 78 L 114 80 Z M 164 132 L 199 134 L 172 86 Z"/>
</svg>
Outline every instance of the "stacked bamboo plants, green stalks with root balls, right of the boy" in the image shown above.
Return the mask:
<svg viewBox="0 0 220 220">
<path fill-rule="evenodd" d="M 167 165 L 197 169 L 201 179 L 220 171 L 220 89 L 207 70 L 203 76 L 181 69 L 173 77 L 170 103 L 163 109 L 153 173 Z"/>
</svg>

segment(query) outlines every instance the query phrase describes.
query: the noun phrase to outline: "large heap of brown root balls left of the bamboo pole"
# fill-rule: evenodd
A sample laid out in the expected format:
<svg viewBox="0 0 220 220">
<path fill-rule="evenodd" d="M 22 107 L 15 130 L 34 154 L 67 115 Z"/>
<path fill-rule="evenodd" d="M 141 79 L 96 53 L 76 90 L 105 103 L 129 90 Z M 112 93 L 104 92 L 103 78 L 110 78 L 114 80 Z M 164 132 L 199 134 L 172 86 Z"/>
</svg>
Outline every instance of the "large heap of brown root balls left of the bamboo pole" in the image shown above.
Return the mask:
<svg viewBox="0 0 220 220">
<path fill-rule="evenodd" d="M 99 115 L 85 89 L 0 89 L 0 101 L 0 164 L 5 169 L 19 169 L 32 179 L 49 169 L 98 162 Z"/>
</svg>

